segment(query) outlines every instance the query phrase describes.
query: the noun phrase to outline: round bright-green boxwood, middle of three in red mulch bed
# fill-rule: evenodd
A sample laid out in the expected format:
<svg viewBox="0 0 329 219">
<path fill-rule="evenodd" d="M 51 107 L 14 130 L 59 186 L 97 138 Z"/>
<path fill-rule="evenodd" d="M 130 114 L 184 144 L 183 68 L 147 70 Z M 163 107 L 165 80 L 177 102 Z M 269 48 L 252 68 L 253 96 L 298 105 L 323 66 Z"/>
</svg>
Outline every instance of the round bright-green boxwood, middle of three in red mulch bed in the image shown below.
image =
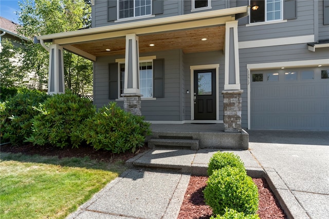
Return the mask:
<svg viewBox="0 0 329 219">
<path fill-rule="evenodd" d="M 254 214 L 258 210 L 258 188 L 241 168 L 228 166 L 214 170 L 203 192 L 214 215 L 224 214 L 225 208 L 245 214 Z"/>
</svg>

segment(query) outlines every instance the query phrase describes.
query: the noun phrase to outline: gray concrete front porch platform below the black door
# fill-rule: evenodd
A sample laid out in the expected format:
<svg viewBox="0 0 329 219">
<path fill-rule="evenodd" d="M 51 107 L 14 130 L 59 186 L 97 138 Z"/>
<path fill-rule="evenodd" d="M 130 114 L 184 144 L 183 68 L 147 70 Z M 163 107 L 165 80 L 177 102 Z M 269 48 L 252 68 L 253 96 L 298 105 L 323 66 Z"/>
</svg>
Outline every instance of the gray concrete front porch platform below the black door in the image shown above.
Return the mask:
<svg viewBox="0 0 329 219">
<path fill-rule="evenodd" d="M 245 130 L 242 129 L 242 132 L 225 132 L 223 124 L 152 124 L 151 130 L 152 136 L 148 138 L 148 141 L 154 141 L 152 144 L 155 147 L 172 148 L 177 142 L 175 140 L 196 140 L 198 148 L 234 150 L 247 150 L 249 144 L 249 134 Z M 157 143 L 157 140 L 172 141 L 168 141 L 167 145 L 163 145 L 162 143 Z M 186 145 L 188 145 L 188 141 Z"/>
</svg>

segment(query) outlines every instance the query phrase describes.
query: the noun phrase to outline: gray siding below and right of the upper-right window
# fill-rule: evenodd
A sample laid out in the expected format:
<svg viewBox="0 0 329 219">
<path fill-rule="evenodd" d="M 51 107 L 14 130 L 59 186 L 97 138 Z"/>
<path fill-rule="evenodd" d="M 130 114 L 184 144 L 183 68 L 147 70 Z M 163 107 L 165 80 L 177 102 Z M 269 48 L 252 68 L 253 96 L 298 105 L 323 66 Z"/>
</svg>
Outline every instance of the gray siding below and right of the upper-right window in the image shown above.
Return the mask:
<svg viewBox="0 0 329 219">
<path fill-rule="evenodd" d="M 297 19 L 284 23 L 239 26 L 239 41 L 281 38 L 314 34 L 313 1 L 297 1 Z"/>
</svg>

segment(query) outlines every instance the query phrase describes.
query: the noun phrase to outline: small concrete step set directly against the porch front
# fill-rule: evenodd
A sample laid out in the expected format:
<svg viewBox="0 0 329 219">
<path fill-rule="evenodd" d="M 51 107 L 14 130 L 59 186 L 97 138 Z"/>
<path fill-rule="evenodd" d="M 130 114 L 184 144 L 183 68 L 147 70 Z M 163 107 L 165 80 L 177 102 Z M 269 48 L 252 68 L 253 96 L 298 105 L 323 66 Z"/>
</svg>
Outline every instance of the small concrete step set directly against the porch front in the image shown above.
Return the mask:
<svg viewBox="0 0 329 219">
<path fill-rule="evenodd" d="M 172 138 L 151 138 L 148 143 L 149 148 L 181 148 L 199 149 L 199 140 L 193 139 L 172 139 Z"/>
</svg>

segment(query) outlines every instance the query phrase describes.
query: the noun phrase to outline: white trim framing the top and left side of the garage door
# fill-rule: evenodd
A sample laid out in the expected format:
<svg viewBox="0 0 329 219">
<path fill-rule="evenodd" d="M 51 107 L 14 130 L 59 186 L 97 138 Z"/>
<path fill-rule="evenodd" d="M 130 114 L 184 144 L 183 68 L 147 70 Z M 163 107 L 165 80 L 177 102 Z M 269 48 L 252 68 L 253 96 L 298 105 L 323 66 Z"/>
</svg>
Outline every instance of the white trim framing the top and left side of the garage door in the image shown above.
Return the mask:
<svg viewBox="0 0 329 219">
<path fill-rule="evenodd" d="M 277 63 L 256 63 L 247 64 L 247 101 L 248 101 L 248 129 L 250 129 L 250 82 L 251 82 L 251 70 L 261 69 L 281 69 L 281 68 L 303 68 L 303 67 L 318 67 L 319 65 L 327 66 L 329 64 L 329 58 L 326 59 L 312 59 L 312 60 L 301 60 L 291 62 L 277 62 Z"/>
</svg>

